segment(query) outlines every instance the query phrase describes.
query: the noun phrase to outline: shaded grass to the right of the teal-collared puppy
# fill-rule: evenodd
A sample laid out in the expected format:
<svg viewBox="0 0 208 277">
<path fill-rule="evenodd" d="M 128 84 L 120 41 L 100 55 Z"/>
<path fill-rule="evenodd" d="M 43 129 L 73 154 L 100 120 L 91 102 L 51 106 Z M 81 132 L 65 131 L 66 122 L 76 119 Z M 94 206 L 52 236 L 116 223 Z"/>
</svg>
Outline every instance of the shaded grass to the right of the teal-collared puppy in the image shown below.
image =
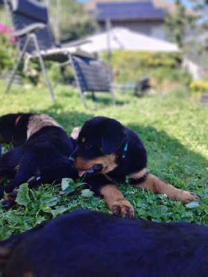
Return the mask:
<svg viewBox="0 0 208 277">
<path fill-rule="evenodd" d="M 142 127 L 128 124 L 143 141 L 148 153 L 148 168 L 153 174 L 166 179 L 177 188 L 194 190 L 206 198 L 207 159 L 188 150 L 177 139 L 172 139 L 166 132 L 158 132 L 154 127 Z M 199 192 L 199 193 L 198 193 Z M 200 193 L 201 192 L 201 193 Z M 208 203 L 207 203 L 208 204 Z"/>
</svg>

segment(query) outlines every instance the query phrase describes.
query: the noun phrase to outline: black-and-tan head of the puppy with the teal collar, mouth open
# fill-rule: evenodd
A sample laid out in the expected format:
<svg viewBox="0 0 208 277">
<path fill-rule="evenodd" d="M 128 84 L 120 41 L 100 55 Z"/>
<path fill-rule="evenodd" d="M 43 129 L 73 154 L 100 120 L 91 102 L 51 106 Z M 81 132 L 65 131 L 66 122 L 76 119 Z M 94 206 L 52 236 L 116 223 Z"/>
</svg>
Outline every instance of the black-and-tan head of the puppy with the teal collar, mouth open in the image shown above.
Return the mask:
<svg viewBox="0 0 208 277">
<path fill-rule="evenodd" d="M 112 119 L 97 116 L 83 125 L 78 136 L 78 146 L 69 160 L 82 176 L 107 173 L 116 168 L 119 150 L 127 140 L 125 128 Z"/>
</svg>

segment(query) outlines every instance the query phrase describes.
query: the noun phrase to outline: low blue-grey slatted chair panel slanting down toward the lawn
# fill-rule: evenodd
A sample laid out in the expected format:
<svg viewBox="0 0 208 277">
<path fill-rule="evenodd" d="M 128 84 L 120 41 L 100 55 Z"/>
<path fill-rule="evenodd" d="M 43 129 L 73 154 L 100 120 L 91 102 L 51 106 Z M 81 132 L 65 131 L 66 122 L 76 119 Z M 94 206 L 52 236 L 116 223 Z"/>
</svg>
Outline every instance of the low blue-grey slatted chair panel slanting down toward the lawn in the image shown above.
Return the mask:
<svg viewBox="0 0 208 277">
<path fill-rule="evenodd" d="M 81 91 L 111 91 L 110 81 L 107 78 L 103 63 L 98 60 L 72 55 L 71 63 Z"/>
</svg>

